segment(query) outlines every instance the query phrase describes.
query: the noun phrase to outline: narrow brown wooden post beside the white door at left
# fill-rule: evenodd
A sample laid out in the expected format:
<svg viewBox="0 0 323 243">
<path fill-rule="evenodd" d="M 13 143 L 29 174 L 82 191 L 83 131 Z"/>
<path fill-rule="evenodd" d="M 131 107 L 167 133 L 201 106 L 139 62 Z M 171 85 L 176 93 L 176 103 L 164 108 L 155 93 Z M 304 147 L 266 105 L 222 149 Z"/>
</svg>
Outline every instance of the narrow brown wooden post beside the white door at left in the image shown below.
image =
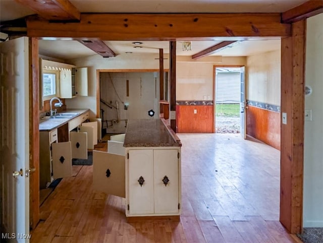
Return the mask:
<svg viewBox="0 0 323 243">
<path fill-rule="evenodd" d="M 29 38 L 29 167 L 36 170 L 29 179 L 30 226 L 39 221 L 39 59 L 38 38 Z"/>
</svg>

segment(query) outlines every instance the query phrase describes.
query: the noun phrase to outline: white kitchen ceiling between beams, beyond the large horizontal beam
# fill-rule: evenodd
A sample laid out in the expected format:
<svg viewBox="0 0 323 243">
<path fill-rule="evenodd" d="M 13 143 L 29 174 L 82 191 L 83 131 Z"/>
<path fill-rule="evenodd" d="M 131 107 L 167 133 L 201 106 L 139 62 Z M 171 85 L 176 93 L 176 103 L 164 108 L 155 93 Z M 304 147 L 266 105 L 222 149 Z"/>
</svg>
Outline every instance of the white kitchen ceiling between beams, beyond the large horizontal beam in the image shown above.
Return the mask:
<svg viewBox="0 0 323 243">
<path fill-rule="evenodd" d="M 169 53 L 168 41 L 142 41 L 142 48 L 132 41 L 104 41 L 117 55 L 125 52 L 132 53 L 159 53 L 159 48 L 164 49 L 164 53 Z M 183 51 L 181 41 L 177 41 L 177 55 L 193 55 L 207 47 L 219 43 L 219 41 L 192 41 L 192 50 Z M 261 52 L 273 51 L 280 49 L 280 39 L 275 40 L 246 40 L 239 41 L 228 46 L 212 55 L 221 56 L 249 56 Z M 50 56 L 59 59 L 75 59 L 96 53 L 85 47 L 78 41 L 72 40 L 39 40 L 39 53 L 44 56 Z M 129 53 L 130 55 L 131 53 Z"/>
</svg>

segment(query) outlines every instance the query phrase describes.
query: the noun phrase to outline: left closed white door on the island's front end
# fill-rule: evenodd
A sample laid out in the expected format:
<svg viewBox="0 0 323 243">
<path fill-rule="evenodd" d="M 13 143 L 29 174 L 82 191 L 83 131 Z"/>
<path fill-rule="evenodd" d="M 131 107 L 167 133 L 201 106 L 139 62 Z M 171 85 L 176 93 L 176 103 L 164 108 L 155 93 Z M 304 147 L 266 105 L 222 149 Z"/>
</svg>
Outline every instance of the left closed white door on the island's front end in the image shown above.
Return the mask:
<svg viewBox="0 0 323 243">
<path fill-rule="evenodd" d="M 153 212 L 153 150 L 129 150 L 129 213 Z"/>
</svg>

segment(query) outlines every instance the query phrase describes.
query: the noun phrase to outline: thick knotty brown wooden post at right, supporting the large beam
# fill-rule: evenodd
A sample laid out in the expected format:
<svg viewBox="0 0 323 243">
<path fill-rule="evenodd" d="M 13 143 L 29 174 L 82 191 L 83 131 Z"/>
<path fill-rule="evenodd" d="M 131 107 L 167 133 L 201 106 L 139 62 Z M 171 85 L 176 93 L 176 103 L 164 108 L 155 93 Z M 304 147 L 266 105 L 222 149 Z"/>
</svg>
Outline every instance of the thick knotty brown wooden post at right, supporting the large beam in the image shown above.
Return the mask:
<svg viewBox="0 0 323 243">
<path fill-rule="evenodd" d="M 304 163 L 304 70 L 306 21 L 292 24 L 292 37 L 282 38 L 280 221 L 292 233 L 302 230 Z"/>
</svg>

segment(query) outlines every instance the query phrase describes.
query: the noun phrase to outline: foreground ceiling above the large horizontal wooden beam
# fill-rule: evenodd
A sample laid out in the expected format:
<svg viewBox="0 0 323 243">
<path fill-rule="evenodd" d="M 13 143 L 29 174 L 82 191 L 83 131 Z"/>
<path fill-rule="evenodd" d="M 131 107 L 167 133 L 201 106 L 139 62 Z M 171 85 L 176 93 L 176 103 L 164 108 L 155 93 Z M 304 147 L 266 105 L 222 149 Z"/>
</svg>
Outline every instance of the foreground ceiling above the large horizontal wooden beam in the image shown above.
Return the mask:
<svg viewBox="0 0 323 243">
<path fill-rule="evenodd" d="M 282 13 L 307 0 L 70 0 L 81 13 Z M 0 0 L 0 20 L 34 14 L 14 0 Z"/>
</svg>

